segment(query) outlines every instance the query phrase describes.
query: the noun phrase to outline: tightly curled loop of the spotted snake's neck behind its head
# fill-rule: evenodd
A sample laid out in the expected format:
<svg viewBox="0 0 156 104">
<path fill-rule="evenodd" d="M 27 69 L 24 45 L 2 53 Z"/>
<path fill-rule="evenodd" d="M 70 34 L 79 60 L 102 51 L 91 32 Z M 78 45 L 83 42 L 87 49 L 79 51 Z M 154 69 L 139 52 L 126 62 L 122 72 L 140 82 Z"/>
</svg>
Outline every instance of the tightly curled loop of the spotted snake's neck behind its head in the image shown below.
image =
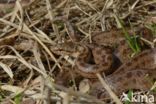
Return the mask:
<svg viewBox="0 0 156 104">
<path fill-rule="evenodd" d="M 90 60 L 90 56 L 87 53 L 90 53 L 88 47 L 85 47 L 85 51 L 81 54 L 77 61 L 75 62 L 76 70 L 82 76 L 86 76 L 92 78 L 95 76 L 95 73 L 105 71 L 106 74 L 111 72 L 110 69 L 113 62 L 112 50 L 108 47 L 102 47 L 97 45 L 90 45 L 90 49 L 92 50 L 94 61 L 96 64 L 87 63 L 87 59 Z M 85 70 L 84 70 L 85 68 Z"/>
</svg>

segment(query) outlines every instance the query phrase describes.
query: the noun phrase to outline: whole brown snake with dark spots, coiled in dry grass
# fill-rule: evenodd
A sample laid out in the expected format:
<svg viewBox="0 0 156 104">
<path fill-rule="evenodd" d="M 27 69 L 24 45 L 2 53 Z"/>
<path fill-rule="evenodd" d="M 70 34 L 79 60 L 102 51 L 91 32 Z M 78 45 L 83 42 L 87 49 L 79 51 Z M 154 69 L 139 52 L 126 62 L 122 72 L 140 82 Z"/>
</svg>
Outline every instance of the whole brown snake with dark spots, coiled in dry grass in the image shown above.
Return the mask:
<svg viewBox="0 0 156 104">
<path fill-rule="evenodd" d="M 144 29 L 141 34 L 142 37 L 148 40 L 153 38 L 147 36 L 151 36 L 151 33 L 146 29 Z M 105 78 L 107 84 L 117 95 L 129 89 L 150 89 L 152 85 L 151 82 L 156 79 L 155 48 L 143 50 L 133 58 L 128 58 L 129 54 L 132 53 L 132 50 L 129 48 L 121 31 L 94 34 L 92 35 L 92 40 L 93 44 L 81 45 L 84 48 L 84 51 L 82 51 L 75 62 L 76 72 L 87 78 L 95 78 L 95 73 L 104 71 L 106 75 L 109 74 Z M 72 48 L 66 48 L 66 50 L 71 52 L 72 49 L 76 49 L 73 45 L 68 45 L 72 46 Z M 112 70 L 110 71 L 110 69 L 113 63 L 113 55 L 110 47 L 113 45 L 117 45 L 116 55 L 118 55 L 119 60 L 123 64 L 112 73 Z M 90 58 L 91 56 L 93 57 L 94 62 L 90 62 L 92 61 Z M 150 80 L 147 80 L 147 76 Z M 100 99 L 108 97 L 107 91 L 103 89 L 100 82 L 92 84 L 90 94 Z"/>
</svg>

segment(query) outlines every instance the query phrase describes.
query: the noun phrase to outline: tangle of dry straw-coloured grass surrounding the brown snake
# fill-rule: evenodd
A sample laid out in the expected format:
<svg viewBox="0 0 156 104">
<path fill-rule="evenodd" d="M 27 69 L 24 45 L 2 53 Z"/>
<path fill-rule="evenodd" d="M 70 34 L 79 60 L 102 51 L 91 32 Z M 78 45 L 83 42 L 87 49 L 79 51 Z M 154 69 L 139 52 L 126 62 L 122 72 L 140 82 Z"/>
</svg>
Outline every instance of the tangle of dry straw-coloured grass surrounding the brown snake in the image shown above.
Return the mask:
<svg viewBox="0 0 156 104">
<path fill-rule="evenodd" d="M 0 101 L 105 104 L 76 91 L 77 83 L 69 88 L 55 83 L 59 73 L 72 69 L 73 60 L 54 54 L 50 47 L 77 41 L 74 34 L 84 41 L 91 39 L 91 33 L 120 28 L 116 15 L 127 27 L 129 23 L 134 28 L 151 24 L 156 22 L 156 1 L 32 0 L 23 7 L 17 0 L 14 9 L 0 18 Z M 59 78 L 65 80 L 63 76 Z"/>
</svg>

